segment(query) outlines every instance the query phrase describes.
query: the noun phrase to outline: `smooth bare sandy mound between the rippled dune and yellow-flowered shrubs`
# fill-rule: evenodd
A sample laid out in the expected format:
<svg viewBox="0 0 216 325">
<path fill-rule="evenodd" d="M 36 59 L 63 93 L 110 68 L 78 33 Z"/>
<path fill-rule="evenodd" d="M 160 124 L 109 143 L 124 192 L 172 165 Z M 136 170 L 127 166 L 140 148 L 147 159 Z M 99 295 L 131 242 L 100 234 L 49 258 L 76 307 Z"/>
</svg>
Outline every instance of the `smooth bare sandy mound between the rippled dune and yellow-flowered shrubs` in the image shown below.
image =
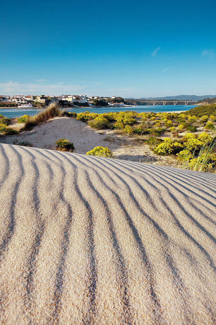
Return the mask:
<svg viewBox="0 0 216 325">
<path fill-rule="evenodd" d="M 16 126 L 12 125 L 11 127 L 16 128 Z M 142 159 L 151 159 L 155 156 L 148 145 L 133 144 L 128 146 L 132 142 L 129 136 L 117 136 L 112 130 L 98 131 L 86 123 L 67 117 L 55 117 L 35 126 L 31 131 L 22 132 L 19 135 L 1 136 L 0 143 L 17 144 L 27 140 L 36 148 L 52 149 L 55 148 L 55 142 L 62 138 L 74 143 L 76 153 L 86 154 L 94 147 L 102 146 L 108 147 L 120 159 L 132 161 L 140 159 L 142 161 Z"/>
</svg>

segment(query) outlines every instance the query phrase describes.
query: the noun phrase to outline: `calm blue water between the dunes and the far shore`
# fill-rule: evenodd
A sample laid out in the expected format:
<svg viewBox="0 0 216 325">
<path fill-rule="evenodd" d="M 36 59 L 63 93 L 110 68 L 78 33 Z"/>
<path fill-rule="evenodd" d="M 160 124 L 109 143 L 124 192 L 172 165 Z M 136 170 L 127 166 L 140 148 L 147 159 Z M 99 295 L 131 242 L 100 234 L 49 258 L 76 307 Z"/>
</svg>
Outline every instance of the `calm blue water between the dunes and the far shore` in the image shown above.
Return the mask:
<svg viewBox="0 0 216 325">
<path fill-rule="evenodd" d="M 181 111 L 181 110 L 190 110 L 191 108 L 195 107 L 196 105 L 154 105 L 154 106 L 136 106 L 136 107 L 102 107 L 102 108 L 78 108 L 73 107 L 72 109 L 67 109 L 68 112 L 76 112 L 80 113 L 85 110 L 94 113 L 104 113 L 104 112 L 119 112 L 125 110 L 133 110 L 137 113 L 141 112 L 169 112 L 169 111 Z M 0 108 L 0 114 L 4 115 L 8 118 L 19 117 L 24 114 L 27 115 L 35 115 L 38 112 L 38 109 L 35 108 Z"/>
</svg>

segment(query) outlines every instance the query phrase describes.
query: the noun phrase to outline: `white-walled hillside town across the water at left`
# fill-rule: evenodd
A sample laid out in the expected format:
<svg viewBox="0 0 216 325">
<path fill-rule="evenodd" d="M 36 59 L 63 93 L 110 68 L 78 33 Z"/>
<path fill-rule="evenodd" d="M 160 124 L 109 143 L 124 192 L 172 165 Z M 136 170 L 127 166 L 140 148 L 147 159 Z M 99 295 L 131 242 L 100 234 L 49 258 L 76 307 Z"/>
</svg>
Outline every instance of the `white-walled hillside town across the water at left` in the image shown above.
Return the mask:
<svg viewBox="0 0 216 325">
<path fill-rule="evenodd" d="M 5 107 L 35 107 L 41 105 L 49 105 L 59 102 L 62 105 L 74 107 L 88 106 L 124 106 L 124 99 L 121 97 L 99 97 L 87 95 L 0 95 L 0 106 Z"/>
</svg>

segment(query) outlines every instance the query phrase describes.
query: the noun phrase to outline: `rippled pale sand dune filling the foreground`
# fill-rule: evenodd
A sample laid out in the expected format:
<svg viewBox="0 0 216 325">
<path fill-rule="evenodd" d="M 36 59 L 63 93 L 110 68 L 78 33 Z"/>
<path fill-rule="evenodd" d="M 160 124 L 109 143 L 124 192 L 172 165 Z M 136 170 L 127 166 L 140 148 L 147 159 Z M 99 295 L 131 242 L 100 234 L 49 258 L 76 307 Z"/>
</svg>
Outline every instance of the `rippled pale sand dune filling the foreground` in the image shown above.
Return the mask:
<svg viewBox="0 0 216 325">
<path fill-rule="evenodd" d="M 0 144 L 1 324 L 215 324 L 216 177 Z"/>
</svg>

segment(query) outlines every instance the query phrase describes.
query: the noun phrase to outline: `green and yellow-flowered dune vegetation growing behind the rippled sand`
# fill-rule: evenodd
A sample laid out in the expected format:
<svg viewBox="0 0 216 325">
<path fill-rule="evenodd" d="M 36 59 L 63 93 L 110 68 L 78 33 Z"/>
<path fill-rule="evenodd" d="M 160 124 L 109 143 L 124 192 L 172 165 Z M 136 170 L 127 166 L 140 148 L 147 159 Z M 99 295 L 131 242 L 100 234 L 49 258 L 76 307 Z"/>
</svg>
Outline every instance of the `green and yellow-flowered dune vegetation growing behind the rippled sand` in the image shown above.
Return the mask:
<svg viewBox="0 0 216 325">
<path fill-rule="evenodd" d="M 30 130 L 55 116 L 72 117 L 94 129 L 111 129 L 115 134 L 129 136 L 134 143 L 149 145 L 157 156 L 178 159 L 178 166 L 182 168 L 215 172 L 216 105 L 198 106 L 183 113 L 119 111 L 98 114 L 85 111 L 77 114 L 66 112 L 54 103 L 36 116 L 20 117 L 18 123 L 24 123 L 23 130 Z M 0 133 L 18 134 L 8 128 L 10 121 L 0 115 Z M 56 142 L 56 150 L 73 152 L 75 149 L 73 143 L 60 139 Z M 99 146 L 86 154 L 113 157 L 108 148 Z"/>
</svg>

